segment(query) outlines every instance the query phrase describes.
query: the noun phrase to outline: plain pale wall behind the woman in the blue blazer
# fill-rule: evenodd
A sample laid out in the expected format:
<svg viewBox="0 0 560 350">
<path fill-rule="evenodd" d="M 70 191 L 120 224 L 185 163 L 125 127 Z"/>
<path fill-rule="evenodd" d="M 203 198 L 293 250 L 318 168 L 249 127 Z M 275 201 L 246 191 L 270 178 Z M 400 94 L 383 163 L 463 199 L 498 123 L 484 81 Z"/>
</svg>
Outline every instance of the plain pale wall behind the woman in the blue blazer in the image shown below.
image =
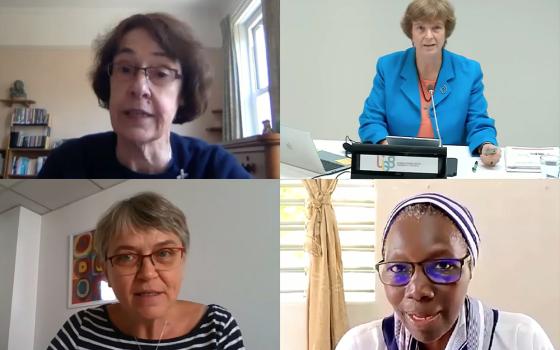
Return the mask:
<svg viewBox="0 0 560 350">
<path fill-rule="evenodd" d="M 560 145 L 560 2 L 452 2 L 457 26 L 447 48 L 481 63 L 499 142 Z M 377 58 L 410 47 L 400 29 L 407 4 L 283 0 L 282 123 L 315 138 L 357 139 Z"/>
</svg>

